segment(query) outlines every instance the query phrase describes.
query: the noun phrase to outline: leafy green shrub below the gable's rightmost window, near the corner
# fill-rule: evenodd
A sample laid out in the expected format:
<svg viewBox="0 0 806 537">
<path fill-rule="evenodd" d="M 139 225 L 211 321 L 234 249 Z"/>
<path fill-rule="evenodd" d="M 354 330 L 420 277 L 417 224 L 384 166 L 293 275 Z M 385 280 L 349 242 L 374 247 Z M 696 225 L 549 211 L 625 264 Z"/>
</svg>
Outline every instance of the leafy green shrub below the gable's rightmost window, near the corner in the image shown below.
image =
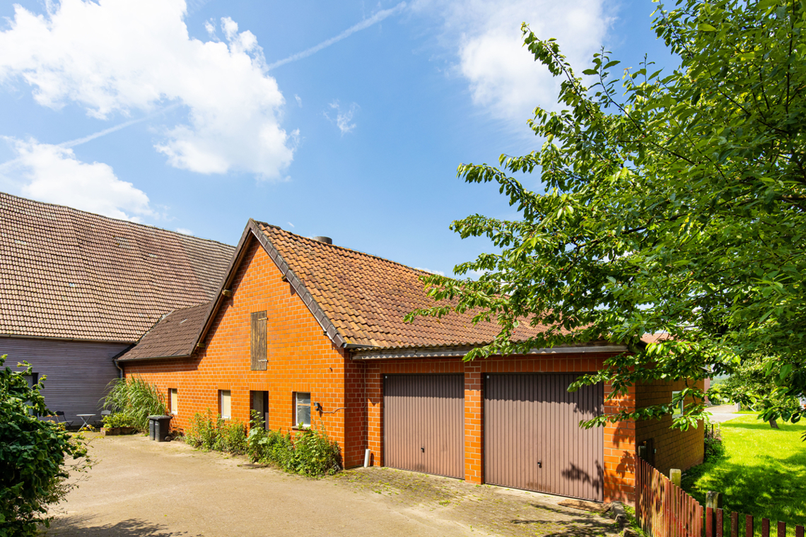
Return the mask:
<svg viewBox="0 0 806 537">
<path fill-rule="evenodd" d="M 287 472 L 320 477 L 341 468 L 339 444 L 330 440 L 324 428 L 308 428 L 291 436 L 290 432 L 267 431 L 260 416 L 252 415 L 247 440 L 250 461 L 271 463 Z"/>
</svg>

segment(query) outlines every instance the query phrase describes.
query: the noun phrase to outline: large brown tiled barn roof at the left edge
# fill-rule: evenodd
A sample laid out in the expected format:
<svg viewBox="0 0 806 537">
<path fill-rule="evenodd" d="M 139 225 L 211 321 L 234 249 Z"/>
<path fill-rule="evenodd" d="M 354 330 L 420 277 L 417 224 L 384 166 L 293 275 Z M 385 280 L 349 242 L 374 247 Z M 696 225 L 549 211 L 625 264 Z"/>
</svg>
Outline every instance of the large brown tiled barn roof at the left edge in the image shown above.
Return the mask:
<svg viewBox="0 0 806 537">
<path fill-rule="evenodd" d="M 209 302 L 234 250 L 0 193 L 0 334 L 137 341 Z"/>
</svg>

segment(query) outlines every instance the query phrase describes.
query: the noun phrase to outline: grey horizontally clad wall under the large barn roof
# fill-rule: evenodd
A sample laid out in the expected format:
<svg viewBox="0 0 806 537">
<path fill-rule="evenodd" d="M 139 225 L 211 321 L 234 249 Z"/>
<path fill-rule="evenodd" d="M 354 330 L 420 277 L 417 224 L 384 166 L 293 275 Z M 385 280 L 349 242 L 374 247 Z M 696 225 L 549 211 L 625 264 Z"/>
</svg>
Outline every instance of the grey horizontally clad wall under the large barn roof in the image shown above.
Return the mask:
<svg viewBox="0 0 806 537">
<path fill-rule="evenodd" d="M 119 374 L 112 357 L 129 346 L 0 337 L 0 356 L 8 355 L 6 366 L 12 370 L 21 370 L 17 363 L 28 361 L 39 378 L 47 375 L 42 394 L 48 408 L 64 411 L 74 425 L 81 425 L 77 414 L 98 414 L 95 419 L 101 419 L 98 400 L 106 394 L 106 385 Z"/>
</svg>

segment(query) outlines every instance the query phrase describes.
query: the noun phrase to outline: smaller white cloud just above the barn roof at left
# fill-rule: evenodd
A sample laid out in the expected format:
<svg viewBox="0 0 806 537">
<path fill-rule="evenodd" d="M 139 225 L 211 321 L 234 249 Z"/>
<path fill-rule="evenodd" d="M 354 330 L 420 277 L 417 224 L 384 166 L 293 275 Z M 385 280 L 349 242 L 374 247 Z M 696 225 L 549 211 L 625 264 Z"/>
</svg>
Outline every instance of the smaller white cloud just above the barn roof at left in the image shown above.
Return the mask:
<svg viewBox="0 0 806 537">
<path fill-rule="evenodd" d="M 156 217 L 145 192 L 119 180 L 110 165 L 84 163 L 69 147 L 39 143 L 34 138 L 4 138 L 17 158 L 0 165 L 4 187 L 25 197 L 107 217 L 139 221 Z"/>
</svg>

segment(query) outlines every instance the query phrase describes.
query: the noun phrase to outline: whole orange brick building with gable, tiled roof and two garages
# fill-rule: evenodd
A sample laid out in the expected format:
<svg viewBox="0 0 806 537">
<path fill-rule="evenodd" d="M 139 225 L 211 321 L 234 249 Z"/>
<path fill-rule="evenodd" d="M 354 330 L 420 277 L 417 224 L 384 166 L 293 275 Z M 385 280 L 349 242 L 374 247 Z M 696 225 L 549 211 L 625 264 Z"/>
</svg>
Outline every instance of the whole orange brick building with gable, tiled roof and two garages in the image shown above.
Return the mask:
<svg viewBox="0 0 806 537">
<path fill-rule="evenodd" d="M 634 454 L 649 440 L 659 469 L 702 460 L 703 428 L 675 432 L 667 419 L 581 429 L 617 405 L 671 400 L 678 386 L 637 386 L 605 406 L 610 386 L 567 386 L 625 349 L 535 349 L 465 362 L 496 324 L 405 314 L 430 305 L 407 266 L 276 226 L 249 221 L 209 304 L 171 312 L 118 359 L 172 404 L 172 427 L 194 413 L 267 426 L 321 424 L 346 467 L 373 465 L 632 502 Z"/>
</svg>

